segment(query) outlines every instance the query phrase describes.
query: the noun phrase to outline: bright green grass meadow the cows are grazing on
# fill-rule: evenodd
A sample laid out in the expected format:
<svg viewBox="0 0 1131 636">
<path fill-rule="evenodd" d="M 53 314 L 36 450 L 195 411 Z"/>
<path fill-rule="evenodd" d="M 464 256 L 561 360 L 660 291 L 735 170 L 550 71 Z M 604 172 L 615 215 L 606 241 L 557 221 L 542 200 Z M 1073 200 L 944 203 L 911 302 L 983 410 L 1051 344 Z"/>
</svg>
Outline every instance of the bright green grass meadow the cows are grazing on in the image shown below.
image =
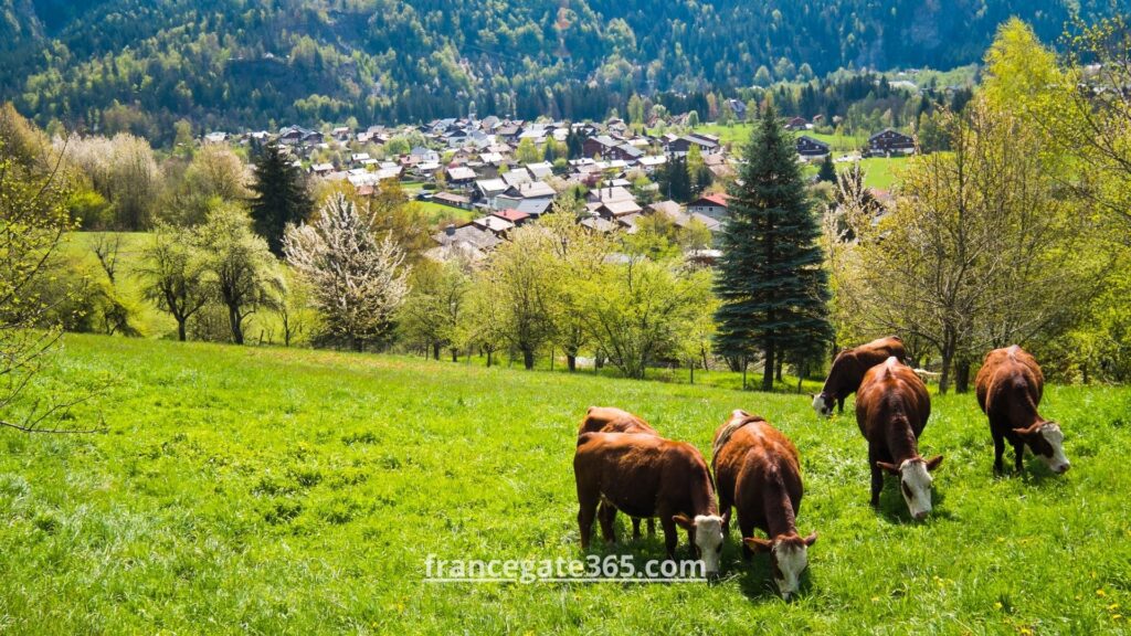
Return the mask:
<svg viewBox="0 0 1131 636">
<path fill-rule="evenodd" d="M 103 373 L 118 380 L 64 423 L 104 419 L 106 433 L 0 430 L 0 633 L 1126 630 L 1125 388 L 1046 392 L 1073 463 L 1062 478 L 1030 457 L 1028 474 L 993 479 L 974 397 L 938 398 L 922 449 L 947 458 L 933 516 L 912 523 L 893 483 L 869 507 L 854 419 L 820 421 L 796 395 L 95 336 L 67 336 L 34 390 Z M 789 435 L 798 525 L 820 532 L 801 596 L 778 599 L 734 534 L 714 586 L 423 582 L 430 553 L 582 557 L 571 459 L 592 404 L 700 448 L 735 407 Z"/>
</svg>

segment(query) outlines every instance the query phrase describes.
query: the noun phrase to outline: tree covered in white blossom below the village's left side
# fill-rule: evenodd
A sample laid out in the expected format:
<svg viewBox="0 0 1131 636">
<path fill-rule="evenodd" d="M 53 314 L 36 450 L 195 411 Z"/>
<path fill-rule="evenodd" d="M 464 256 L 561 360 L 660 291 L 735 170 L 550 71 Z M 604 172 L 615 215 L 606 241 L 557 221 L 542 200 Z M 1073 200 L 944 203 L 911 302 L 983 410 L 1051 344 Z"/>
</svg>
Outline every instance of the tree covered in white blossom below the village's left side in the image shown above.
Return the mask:
<svg viewBox="0 0 1131 636">
<path fill-rule="evenodd" d="M 325 335 L 362 351 L 389 332 L 408 293 L 409 267 L 391 237 L 378 239 L 372 220 L 342 195 L 312 224 L 291 226 L 283 251 L 310 286 Z"/>
</svg>

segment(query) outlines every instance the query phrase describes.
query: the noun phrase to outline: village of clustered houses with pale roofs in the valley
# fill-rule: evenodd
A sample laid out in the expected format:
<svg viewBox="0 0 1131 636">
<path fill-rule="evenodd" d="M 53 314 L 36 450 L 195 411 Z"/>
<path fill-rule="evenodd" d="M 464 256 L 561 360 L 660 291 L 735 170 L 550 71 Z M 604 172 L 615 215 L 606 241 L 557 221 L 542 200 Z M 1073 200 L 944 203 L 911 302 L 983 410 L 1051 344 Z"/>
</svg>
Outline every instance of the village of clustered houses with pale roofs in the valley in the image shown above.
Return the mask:
<svg viewBox="0 0 1131 636">
<path fill-rule="evenodd" d="M 728 100 L 726 108 L 741 122 L 748 106 Z M 757 117 L 750 113 L 749 120 Z M 377 194 L 382 183 L 397 182 L 424 204 L 437 221 L 435 248 L 428 256 L 480 260 L 516 227 L 536 222 L 559 197 L 584 203 L 580 223 L 599 233 L 637 232 L 641 217 L 661 215 L 679 230 L 698 230 L 706 241 L 688 244 L 685 257 L 710 264 L 718 256 L 714 237 L 727 216 L 726 184 L 741 161 L 741 143 L 688 126 L 687 114 L 670 122 L 651 120 L 636 127 L 623 119 L 601 123 L 523 121 L 491 115 L 434 120 L 421 126 L 371 126 L 364 130 L 333 127 L 312 130 L 288 126 L 268 131 L 230 135 L 211 132 L 204 143 L 261 146 L 277 143 L 295 166 L 314 180 L 348 182 L 359 196 Z M 813 134 L 823 122 L 802 117 L 785 120 L 796 136 L 798 161 L 813 181 L 824 161 L 838 165 L 865 157 L 889 160 L 916 153 L 916 140 L 890 128 L 875 132 L 856 152 L 834 151 Z M 657 128 L 674 130 L 659 134 Z M 823 136 L 829 138 L 831 136 Z M 389 153 L 390 141 L 412 139 L 405 153 Z M 537 161 L 530 161 L 535 158 Z M 834 160 L 834 156 L 836 157 Z M 526 160 L 526 161 L 524 161 Z M 665 170 L 675 162 L 699 162 L 707 175 L 691 188 L 687 200 L 665 191 Z M 872 188 L 879 201 L 890 194 Z"/>
</svg>

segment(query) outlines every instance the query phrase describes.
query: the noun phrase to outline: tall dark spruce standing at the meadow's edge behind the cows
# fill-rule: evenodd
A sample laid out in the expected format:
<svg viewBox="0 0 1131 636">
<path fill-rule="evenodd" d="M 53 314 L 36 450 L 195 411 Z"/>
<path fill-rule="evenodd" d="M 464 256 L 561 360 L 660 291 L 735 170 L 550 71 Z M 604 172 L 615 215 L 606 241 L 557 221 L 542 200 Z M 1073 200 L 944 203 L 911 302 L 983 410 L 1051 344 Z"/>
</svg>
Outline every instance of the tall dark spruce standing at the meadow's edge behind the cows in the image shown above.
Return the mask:
<svg viewBox="0 0 1131 636">
<path fill-rule="evenodd" d="M 751 132 L 745 157 L 728 190 L 715 349 L 742 361 L 761 354 L 762 389 L 770 390 L 779 359 L 831 340 L 829 283 L 797 152 L 772 109 Z"/>
</svg>

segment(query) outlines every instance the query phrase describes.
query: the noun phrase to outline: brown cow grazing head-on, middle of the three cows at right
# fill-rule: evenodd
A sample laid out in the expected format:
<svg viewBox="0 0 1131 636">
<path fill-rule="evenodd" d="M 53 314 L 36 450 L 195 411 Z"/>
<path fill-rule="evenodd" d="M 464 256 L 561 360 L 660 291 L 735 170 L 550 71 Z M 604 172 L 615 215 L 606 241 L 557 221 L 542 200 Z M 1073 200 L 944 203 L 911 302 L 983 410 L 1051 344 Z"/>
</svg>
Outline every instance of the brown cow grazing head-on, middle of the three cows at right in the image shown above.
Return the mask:
<svg viewBox="0 0 1131 636">
<path fill-rule="evenodd" d="M 899 491 L 912 516 L 931 513 L 931 474 L 942 455 L 924 459 L 918 454 L 918 436 L 931 416 L 926 385 L 896 358 L 872 367 L 856 394 L 856 423 L 867 440 L 867 464 L 872 470 L 872 506 L 880 506 L 883 471 L 899 475 Z"/>
</svg>

